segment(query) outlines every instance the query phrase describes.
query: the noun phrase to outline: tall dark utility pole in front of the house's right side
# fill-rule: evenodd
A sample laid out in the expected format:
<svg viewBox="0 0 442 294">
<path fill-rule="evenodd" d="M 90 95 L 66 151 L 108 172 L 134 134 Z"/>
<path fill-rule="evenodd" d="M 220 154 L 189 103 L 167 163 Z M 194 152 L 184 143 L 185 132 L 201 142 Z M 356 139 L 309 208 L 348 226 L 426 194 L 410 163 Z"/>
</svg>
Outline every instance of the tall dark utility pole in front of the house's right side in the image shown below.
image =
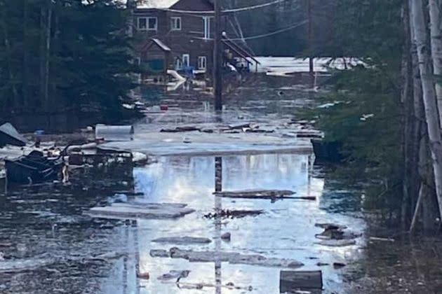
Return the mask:
<svg viewBox="0 0 442 294">
<path fill-rule="evenodd" d="M 215 0 L 215 40 L 213 44 L 213 90 L 215 111 L 222 111 L 222 28 L 221 0 Z"/>
</svg>

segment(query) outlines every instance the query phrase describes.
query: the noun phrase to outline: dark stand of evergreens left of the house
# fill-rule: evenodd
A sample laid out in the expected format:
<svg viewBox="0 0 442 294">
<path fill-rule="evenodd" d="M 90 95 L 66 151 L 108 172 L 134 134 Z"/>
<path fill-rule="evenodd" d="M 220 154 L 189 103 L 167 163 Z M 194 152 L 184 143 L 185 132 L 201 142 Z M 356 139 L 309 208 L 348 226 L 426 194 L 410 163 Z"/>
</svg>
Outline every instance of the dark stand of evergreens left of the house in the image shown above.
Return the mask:
<svg viewBox="0 0 442 294">
<path fill-rule="evenodd" d="M 94 109 L 134 87 L 126 11 L 113 0 L 0 1 L 0 113 Z"/>
</svg>

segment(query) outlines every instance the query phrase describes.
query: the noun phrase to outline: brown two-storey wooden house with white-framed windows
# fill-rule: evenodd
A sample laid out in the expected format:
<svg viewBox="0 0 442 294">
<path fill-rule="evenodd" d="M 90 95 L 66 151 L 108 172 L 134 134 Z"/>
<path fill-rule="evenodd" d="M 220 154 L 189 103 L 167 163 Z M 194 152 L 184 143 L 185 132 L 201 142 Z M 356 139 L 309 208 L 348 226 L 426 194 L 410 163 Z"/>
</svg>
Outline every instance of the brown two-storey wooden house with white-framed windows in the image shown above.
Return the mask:
<svg viewBox="0 0 442 294">
<path fill-rule="evenodd" d="M 194 73 L 210 75 L 215 31 L 213 10 L 211 0 L 142 1 L 133 9 L 132 22 L 135 39 L 140 43 L 140 64 L 149 73 L 192 69 Z M 222 17 L 221 25 L 225 36 L 230 34 L 227 16 Z M 246 49 L 226 42 L 229 52 L 248 62 L 251 55 Z"/>
</svg>

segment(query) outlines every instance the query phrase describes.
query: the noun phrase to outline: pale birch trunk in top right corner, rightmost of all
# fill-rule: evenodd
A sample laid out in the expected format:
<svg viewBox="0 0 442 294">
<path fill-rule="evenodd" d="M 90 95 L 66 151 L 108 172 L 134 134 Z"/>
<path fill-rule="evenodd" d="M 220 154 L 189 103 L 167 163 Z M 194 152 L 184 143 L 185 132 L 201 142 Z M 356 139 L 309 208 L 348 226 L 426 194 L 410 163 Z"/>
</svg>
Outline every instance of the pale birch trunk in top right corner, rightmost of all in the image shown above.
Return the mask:
<svg viewBox="0 0 442 294">
<path fill-rule="evenodd" d="M 439 0 L 429 0 L 431 57 L 433 58 L 434 74 L 442 75 L 442 27 L 441 6 Z M 436 97 L 439 111 L 439 121 L 442 122 L 442 85 L 436 83 Z"/>
</svg>

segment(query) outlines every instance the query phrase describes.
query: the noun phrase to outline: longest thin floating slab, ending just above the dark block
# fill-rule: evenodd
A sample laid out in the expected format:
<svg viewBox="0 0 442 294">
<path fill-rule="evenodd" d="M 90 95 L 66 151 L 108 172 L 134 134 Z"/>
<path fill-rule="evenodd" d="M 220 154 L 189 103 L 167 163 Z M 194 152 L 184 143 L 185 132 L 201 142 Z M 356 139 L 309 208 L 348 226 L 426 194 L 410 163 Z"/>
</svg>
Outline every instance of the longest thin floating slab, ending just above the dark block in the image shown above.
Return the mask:
<svg viewBox="0 0 442 294">
<path fill-rule="evenodd" d="M 286 258 L 266 258 L 263 255 L 245 255 L 225 251 L 192 251 L 183 250 L 177 247 L 166 250 L 151 250 L 152 257 L 159 258 L 182 258 L 189 262 L 229 262 L 236 265 L 257 265 L 262 267 L 302 267 L 302 262 Z"/>
</svg>

